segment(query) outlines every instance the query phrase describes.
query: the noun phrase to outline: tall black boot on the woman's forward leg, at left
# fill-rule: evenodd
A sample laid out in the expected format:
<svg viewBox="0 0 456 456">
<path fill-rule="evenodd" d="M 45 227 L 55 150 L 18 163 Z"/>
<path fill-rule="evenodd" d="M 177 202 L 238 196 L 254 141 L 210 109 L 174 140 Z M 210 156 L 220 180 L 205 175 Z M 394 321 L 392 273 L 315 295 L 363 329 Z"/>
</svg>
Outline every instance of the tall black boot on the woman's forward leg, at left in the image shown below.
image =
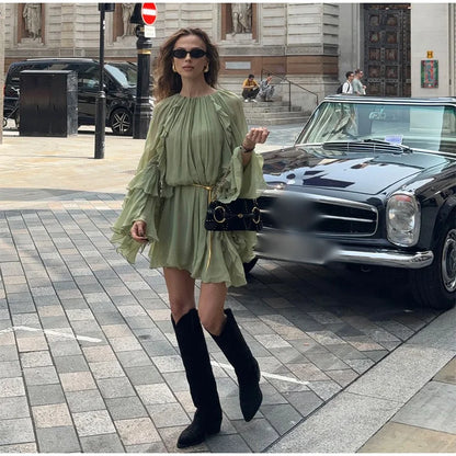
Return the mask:
<svg viewBox="0 0 456 456">
<path fill-rule="evenodd" d="M 197 310 L 190 310 L 178 323 L 174 323 L 172 317 L 171 321 L 185 367 L 190 392 L 196 407 L 192 424 L 178 440 L 178 448 L 185 448 L 197 445 L 204 442 L 206 436 L 220 432 L 221 407 Z"/>
</svg>

